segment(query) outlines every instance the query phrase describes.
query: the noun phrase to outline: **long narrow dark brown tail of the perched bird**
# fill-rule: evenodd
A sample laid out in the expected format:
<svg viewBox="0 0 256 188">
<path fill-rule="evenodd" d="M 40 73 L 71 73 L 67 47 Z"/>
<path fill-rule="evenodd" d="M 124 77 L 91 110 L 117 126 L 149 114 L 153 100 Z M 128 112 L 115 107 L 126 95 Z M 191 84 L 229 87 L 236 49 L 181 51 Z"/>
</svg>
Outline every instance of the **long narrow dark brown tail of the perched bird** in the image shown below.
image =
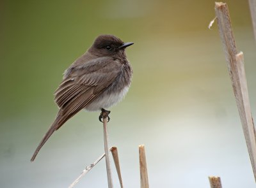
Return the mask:
<svg viewBox="0 0 256 188">
<path fill-rule="evenodd" d="M 63 115 L 61 115 L 60 112 L 61 112 L 61 110 L 58 112 L 58 115 L 57 115 L 56 119 L 54 120 L 54 122 L 52 123 L 52 126 L 49 128 L 49 130 L 45 134 L 44 138 L 41 140 L 38 147 L 36 148 L 35 153 L 33 154 L 32 158 L 30 160 L 31 162 L 33 162 L 35 160 L 36 155 L 38 154 L 39 150 L 43 147 L 45 142 L 50 138 L 52 133 L 54 131 L 56 131 L 60 126 L 62 126 L 66 122 L 66 120 L 63 121 Z"/>
</svg>

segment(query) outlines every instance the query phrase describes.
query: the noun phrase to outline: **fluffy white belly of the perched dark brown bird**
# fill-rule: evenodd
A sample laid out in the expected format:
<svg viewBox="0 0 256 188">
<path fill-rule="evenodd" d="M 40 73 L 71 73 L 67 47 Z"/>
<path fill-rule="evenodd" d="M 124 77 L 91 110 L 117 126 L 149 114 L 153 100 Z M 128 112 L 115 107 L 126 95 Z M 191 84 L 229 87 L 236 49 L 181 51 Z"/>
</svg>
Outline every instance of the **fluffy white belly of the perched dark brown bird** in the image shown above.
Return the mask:
<svg viewBox="0 0 256 188">
<path fill-rule="evenodd" d="M 109 107 L 116 105 L 116 103 L 122 101 L 125 94 L 127 94 L 129 86 L 125 87 L 121 92 L 100 95 L 99 98 L 95 99 L 92 103 L 85 107 L 88 111 L 97 111 L 101 108 L 108 110 Z"/>
</svg>

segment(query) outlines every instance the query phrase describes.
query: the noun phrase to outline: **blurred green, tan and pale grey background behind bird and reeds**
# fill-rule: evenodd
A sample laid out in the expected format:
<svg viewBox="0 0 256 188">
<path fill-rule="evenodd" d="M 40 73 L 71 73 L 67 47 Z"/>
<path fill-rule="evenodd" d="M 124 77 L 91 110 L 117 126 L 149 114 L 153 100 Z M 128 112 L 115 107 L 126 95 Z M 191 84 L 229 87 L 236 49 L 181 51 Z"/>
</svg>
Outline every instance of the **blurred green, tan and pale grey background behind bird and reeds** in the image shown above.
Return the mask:
<svg viewBox="0 0 256 188">
<path fill-rule="evenodd" d="M 0 187 L 68 187 L 104 152 L 99 113 L 79 112 L 29 161 L 58 111 L 61 74 L 99 34 L 135 43 L 131 89 L 108 124 L 125 187 L 140 187 L 142 143 L 150 187 L 209 187 L 209 175 L 223 187 L 255 187 L 218 27 L 207 29 L 214 1 L 0 2 Z M 255 117 L 248 2 L 226 2 Z M 113 176 L 118 187 L 114 166 Z M 77 187 L 107 185 L 101 161 Z"/>
</svg>

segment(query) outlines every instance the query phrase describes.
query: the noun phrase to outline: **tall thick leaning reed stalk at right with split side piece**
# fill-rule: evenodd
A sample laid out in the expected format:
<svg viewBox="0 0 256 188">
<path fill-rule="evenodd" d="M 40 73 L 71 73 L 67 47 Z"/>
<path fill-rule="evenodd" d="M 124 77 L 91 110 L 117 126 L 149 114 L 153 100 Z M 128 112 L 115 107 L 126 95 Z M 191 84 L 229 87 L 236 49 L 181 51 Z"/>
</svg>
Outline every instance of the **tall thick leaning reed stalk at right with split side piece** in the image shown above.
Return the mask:
<svg viewBox="0 0 256 188">
<path fill-rule="evenodd" d="M 237 108 L 243 126 L 244 137 L 252 163 L 253 174 L 256 180 L 256 140 L 255 127 L 248 97 L 246 75 L 244 71 L 243 53 L 237 54 L 236 42 L 232 31 L 228 6 L 226 3 L 215 3 L 215 12 L 218 20 L 221 41 L 225 51 L 228 71 L 232 81 Z"/>
</svg>

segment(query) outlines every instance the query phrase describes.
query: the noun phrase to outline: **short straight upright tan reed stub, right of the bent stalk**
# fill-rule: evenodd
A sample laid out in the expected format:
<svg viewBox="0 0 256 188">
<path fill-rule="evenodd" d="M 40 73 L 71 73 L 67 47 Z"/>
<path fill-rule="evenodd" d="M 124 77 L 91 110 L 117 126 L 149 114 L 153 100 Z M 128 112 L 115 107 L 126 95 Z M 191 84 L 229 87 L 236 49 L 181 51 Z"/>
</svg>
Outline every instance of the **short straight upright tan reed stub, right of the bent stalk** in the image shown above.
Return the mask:
<svg viewBox="0 0 256 188">
<path fill-rule="evenodd" d="M 139 145 L 140 155 L 140 187 L 148 188 L 148 171 L 144 145 Z"/>
</svg>

